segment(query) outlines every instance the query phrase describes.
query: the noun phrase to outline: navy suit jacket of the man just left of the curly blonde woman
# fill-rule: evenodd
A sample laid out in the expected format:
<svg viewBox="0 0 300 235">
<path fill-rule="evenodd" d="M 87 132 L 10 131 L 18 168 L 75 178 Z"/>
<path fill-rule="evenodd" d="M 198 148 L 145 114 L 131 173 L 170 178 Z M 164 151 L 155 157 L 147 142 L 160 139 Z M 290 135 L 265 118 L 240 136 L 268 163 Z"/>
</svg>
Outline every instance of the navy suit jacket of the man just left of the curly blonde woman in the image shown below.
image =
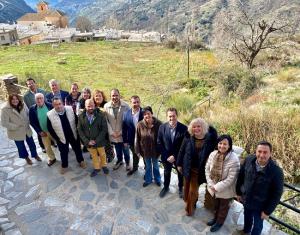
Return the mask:
<svg viewBox="0 0 300 235">
<path fill-rule="evenodd" d="M 175 157 L 175 160 L 177 160 L 180 146 L 187 132 L 187 127 L 178 122 L 176 126 L 174 141 L 172 142 L 169 126 L 169 123 L 166 122 L 159 127 L 158 131 L 157 145 L 161 153 L 161 160 L 163 162 L 167 161 L 168 157 L 170 157 L 171 155 L 173 155 Z"/>
</svg>

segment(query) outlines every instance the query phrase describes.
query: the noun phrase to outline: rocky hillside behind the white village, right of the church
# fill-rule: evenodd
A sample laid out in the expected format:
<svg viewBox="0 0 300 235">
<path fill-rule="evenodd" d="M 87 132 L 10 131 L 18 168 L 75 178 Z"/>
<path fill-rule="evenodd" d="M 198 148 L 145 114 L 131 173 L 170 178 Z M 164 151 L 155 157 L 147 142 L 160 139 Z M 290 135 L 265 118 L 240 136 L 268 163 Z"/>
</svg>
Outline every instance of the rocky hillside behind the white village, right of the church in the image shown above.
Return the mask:
<svg viewBox="0 0 300 235">
<path fill-rule="evenodd" d="M 55 7 L 66 12 L 73 25 L 83 15 L 96 27 L 182 34 L 192 26 L 208 41 L 220 11 L 234 11 L 237 3 L 247 6 L 252 15 L 263 13 L 269 19 L 285 14 L 293 20 L 300 14 L 299 0 L 60 0 Z"/>
</svg>

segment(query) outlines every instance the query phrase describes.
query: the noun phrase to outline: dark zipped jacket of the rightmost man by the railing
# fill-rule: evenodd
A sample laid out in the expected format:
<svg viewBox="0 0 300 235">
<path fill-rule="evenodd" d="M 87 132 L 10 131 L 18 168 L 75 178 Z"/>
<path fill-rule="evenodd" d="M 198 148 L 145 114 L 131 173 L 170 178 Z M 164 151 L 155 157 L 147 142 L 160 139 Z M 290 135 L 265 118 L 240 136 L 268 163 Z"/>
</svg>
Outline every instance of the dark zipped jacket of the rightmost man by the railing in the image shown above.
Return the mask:
<svg viewBox="0 0 300 235">
<path fill-rule="evenodd" d="M 270 215 L 283 192 L 283 172 L 272 159 L 262 171 L 257 172 L 255 162 L 255 155 L 246 158 L 240 169 L 236 192 L 242 196 L 245 208 Z"/>
</svg>

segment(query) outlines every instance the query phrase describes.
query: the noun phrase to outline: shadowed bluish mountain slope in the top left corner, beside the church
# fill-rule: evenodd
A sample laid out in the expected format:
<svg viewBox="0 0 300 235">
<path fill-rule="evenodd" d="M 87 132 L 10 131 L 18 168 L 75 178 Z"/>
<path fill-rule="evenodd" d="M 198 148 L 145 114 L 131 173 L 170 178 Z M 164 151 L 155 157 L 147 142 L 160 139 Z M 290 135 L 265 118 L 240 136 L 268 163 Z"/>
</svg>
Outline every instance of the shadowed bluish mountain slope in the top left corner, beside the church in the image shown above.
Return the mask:
<svg viewBox="0 0 300 235">
<path fill-rule="evenodd" d="M 34 12 L 24 0 L 0 0 L 0 23 L 15 22 L 26 13 Z"/>
</svg>

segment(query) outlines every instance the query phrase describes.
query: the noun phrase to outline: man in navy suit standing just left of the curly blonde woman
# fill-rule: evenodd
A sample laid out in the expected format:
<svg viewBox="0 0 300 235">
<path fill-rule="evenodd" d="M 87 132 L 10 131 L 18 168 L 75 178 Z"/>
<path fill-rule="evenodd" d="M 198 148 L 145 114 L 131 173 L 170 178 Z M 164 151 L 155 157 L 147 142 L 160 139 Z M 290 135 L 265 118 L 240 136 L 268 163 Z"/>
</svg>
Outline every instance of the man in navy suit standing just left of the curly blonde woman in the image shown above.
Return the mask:
<svg viewBox="0 0 300 235">
<path fill-rule="evenodd" d="M 177 116 L 177 110 L 175 108 L 169 108 L 167 110 L 168 122 L 161 125 L 158 131 L 157 144 L 164 165 L 164 188 L 159 194 L 161 198 L 169 191 L 172 167 L 176 164 L 177 155 L 187 131 L 187 127 L 178 122 Z M 175 169 L 178 175 L 179 197 L 182 198 L 183 176 L 177 170 L 177 167 Z"/>
</svg>

